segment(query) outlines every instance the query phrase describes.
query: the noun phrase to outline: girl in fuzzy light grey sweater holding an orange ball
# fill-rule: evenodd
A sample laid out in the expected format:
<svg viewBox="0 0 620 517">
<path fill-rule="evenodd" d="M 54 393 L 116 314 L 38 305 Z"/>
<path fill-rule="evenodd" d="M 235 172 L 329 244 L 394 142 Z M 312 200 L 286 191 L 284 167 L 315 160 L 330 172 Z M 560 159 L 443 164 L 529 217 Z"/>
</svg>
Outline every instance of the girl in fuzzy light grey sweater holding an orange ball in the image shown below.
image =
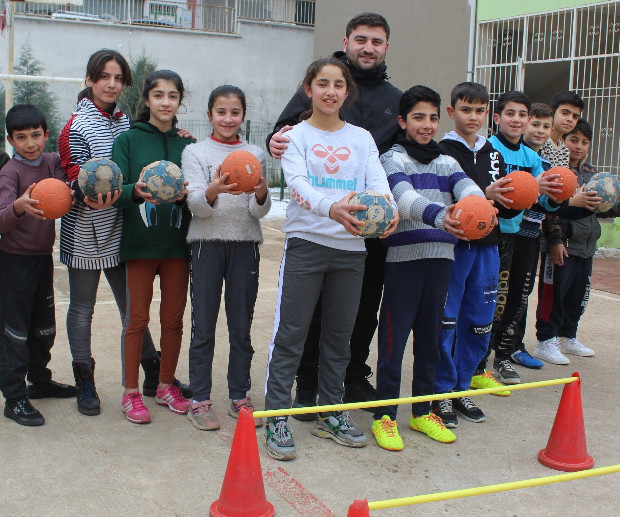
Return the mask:
<svg viewBox="0 0 620 517">
<path fill-rule="evenodd" d="M 242 407 L 253 409 L 247 396 L 254 349 L 250 328 L 258 292 L 259 244 L 263 235 L 259 219 L 269 212 L 271 198 L 265 178 L 253 192 L 226 184 L 221 164 L 233 151 L 249 151 L 265 170 L 265 153 L 239 138 L 245 118 L 244 93 L 236 86 L 219 86 L 211 92 L 207 115 L 213 124 L 211 137 L 183 151 L 182 168 L 187 204 L 193 218 L 187 234 L 190 245 L 192 337 L 189 349 L 190 385 L 194 400 L 187 413 L 194 427 L 219 429 L 211 402 L 215 325 L 220 308 L 222 281 L 230 351 L 228 360 L 228 414 L 237 418 Z M 256 425 L 262 424 L 260 419 Z"/>
</svg>

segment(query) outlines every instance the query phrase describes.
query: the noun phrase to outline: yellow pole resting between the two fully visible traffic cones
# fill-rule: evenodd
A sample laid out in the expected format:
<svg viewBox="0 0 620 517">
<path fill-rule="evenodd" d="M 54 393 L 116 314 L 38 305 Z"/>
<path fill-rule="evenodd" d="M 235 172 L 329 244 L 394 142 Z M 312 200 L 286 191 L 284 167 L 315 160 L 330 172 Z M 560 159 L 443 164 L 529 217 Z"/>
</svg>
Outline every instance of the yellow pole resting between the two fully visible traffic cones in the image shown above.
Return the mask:
<svg viewBox="0 0 620 517">
<path fill-rule="evenodd" d="M 329 406 L 308 406 L 303 408 L 290 409 L 271 409 L 268 411 L 254 411 L 254 418 L 269 418 L 274 416 L 304 415 L 306 413 L 318 413 L 327 411 L 348 411 L 350 409 L 363 409 L 368 407 L 396 406 L 398 404 L 413 404 L 414 402 L 426 402 L 430 400 L 453 399 L 460 397 L 473 397 L 486 395 L 498 391 L 518 391 L 531 388 L 542 388 L 543 386 L 556 386 L 558 384 L 570 384 L 579 380 L 579 377 L 566 377 L 563 379 L 551 379 L 548 381 L 527 382 L 525 384 L 511 384 L 510 386 L 500 386 L 497 388 L 485 388 L 482 390 L 452 391 L 450 393 L 436 393 L 434 395 L 424 395 L 421 397 L 405 397 L 401 399 L 371 400 L 368 402 L 352 402 L 350 404 L 331 404 Z"/>
</svg>

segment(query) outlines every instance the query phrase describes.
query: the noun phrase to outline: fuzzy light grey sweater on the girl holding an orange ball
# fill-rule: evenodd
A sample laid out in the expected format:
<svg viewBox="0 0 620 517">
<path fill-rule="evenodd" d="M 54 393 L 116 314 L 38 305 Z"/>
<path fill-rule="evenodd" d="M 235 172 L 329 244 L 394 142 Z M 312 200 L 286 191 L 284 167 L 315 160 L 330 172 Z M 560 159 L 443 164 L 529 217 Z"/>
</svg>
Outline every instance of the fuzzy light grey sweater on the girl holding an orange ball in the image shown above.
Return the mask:
<svg viewBox="0 0 620 517">
<path fill-rule="evenodd" d="M 194 241 L 251 241 L 263 242 L 259 219 L 271 208 L 271 196 L 262 205 L 252 194 L 218 194 L 213 206 L 207 201 L 206 190 L 215 171 L 226 156 L 234 151 L 251 152 L 266 170 L 265 153 L 259 147 L 239 141 L 236 144 L 217 142 L 211 138 L 188 145 L 183 151 L 183 174 L 189 182 L 187 204 L 193 218 L 187 242 Z"/>
</svg>

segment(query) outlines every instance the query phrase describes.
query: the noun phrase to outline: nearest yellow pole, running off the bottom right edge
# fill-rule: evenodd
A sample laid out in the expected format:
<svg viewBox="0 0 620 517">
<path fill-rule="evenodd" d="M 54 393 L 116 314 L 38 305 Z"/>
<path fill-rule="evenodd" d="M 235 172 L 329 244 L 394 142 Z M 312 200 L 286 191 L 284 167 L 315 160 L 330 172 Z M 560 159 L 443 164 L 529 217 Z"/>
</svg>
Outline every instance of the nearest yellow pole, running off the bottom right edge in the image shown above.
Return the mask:
<svg viewBox="0 0 620 517">
<path fill-rule="evenodd" d="M 470 497 L 472 495 L 493 494 L 495 492 L 506 492 L 508 490 L 516 490 L 518 488 L 529 488 L 533 486 L 550 485 L 552 483 L 561 483 L 562 481 L 572 481 L 574 479 L 602 476 L 603 474 L 611 474 L 613 472 L 620 472 L 620 465 L 599 467 L 591 470 L 582 470 L 580 472 L 569 472 L 567 474 L 558 474 L 556 476 L 524 479 L 523 481 L 512 481 L 510 483 L 501 483 L 499 485 L 465 488 L 463 490 L 451 490 L 450 492 L 440 492 L 437 494 L 416 495 L 413 497 L 402 497 L 400 499 L 386 499 L 384 501 L 372 501 L 368 503 L 368 509 L 383 510 L 385 508 L 396 508 L 398 506 L 431 503 L 436 501 L 445 501 L 447 499 L 459 499 L 462 497 Z"/>
</svg>

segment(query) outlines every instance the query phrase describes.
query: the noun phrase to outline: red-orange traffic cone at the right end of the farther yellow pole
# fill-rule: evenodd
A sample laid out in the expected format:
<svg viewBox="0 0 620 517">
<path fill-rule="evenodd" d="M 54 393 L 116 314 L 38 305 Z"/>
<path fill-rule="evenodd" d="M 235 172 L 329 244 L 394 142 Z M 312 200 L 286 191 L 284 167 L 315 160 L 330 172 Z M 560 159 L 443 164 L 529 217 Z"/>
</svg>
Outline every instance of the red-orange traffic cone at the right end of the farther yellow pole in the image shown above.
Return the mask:
<svg viewBox="0 0 620 517">
<path fill-rule="evenodd" d="M 545 467 L 567 472 L 591 469 L 594 459 L 588 454 L 581 407 L 581 378 L 566 384 L 555 415 L 547 447 L 538 453 Z"/>
</svg>

